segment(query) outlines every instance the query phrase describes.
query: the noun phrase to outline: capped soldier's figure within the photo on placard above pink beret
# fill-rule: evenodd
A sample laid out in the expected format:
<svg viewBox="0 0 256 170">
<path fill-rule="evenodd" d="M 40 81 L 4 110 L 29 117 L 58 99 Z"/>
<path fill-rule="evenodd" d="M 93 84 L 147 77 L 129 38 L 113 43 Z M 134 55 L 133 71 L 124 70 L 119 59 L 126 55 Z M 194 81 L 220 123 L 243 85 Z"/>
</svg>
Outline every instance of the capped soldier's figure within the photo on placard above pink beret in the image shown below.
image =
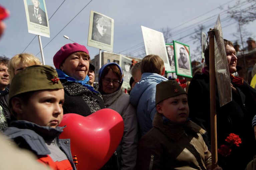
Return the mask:
<svg viewBox="0 0 256 170">
<path fill-rule="evenodd" d="M 110 45 L 111 37 L 108 34 L 110 22 L 103 16 L 96 18 L 96 27 L 92 30 L 92 40 Z"/>
</svg>

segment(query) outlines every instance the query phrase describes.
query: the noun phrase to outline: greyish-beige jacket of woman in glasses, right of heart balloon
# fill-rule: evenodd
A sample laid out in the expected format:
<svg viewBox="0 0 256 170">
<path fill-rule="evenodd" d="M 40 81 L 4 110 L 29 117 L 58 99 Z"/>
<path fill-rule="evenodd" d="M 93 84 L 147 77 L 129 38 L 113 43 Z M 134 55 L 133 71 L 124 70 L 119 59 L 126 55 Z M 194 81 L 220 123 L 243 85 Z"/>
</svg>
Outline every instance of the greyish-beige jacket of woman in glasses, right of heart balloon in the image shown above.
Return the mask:
<svg viewBox="0 0 256 170">
<path fill-rule="evenodd" d="M 136 109 L 130 104 L 130 97 L 122 88 L 111 94 L 102 95 L 102 98 L 106 108 L 117 111 L 123 118 L 123 137 L 116 150 L 120 170 L 134 170 L 138 144 Z"/>
</svg>

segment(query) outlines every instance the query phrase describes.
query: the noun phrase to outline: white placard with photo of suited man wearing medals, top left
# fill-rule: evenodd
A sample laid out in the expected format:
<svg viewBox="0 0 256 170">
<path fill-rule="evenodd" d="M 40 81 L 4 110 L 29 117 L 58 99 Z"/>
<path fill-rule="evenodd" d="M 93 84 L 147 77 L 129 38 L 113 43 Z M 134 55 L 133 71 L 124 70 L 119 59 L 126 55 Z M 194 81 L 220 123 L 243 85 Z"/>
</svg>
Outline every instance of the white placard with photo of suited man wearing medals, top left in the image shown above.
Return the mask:
<svg viewBox="0 0 256 170">
<path fill-rule="evenodd" d="M 45 0 L 24 0 L 28 32 L 50 38 Z"/>
</svg>

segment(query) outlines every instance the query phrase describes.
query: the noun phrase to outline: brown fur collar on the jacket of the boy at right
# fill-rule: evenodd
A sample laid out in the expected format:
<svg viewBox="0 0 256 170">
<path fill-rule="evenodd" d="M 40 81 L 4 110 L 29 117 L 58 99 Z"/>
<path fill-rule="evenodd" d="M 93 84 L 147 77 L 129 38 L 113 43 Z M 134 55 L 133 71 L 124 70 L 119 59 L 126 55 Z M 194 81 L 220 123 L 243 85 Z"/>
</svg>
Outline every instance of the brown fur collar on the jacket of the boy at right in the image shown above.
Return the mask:
<svg viewBox="0 0 256 170">
<path fill-rule="evenodd" d="M 193 121 L 189 120 L 184 125 L 177 125 L 168 121 L 164 123 L 162 115 L 156 113 L 155 118 L 153 120 L 153 126 L 162 131 L 166 136 L 168 136 L 171 140 L 177 141 L 181 138 L 182 135 L 186 132 L 191 132 L 195 134 L 195 137 L 198 137 L 196 134 L 200 133 L 205 134 L 206 131 L 198 126 Z"/>
</svg>

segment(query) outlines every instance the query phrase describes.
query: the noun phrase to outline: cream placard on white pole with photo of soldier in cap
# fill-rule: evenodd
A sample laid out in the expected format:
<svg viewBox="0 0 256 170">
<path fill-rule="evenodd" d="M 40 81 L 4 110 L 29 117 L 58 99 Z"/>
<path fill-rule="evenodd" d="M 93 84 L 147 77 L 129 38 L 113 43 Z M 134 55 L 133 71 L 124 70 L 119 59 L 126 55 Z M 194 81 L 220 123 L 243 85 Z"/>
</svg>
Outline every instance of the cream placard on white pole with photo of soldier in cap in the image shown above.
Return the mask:
<svg viewBox="0 0 256 170">
<path fill-rule="evenodd" d="M 95 11 L 90 12 L 87 45 L 113 52 L 114 20 Z"/>
</svg>

